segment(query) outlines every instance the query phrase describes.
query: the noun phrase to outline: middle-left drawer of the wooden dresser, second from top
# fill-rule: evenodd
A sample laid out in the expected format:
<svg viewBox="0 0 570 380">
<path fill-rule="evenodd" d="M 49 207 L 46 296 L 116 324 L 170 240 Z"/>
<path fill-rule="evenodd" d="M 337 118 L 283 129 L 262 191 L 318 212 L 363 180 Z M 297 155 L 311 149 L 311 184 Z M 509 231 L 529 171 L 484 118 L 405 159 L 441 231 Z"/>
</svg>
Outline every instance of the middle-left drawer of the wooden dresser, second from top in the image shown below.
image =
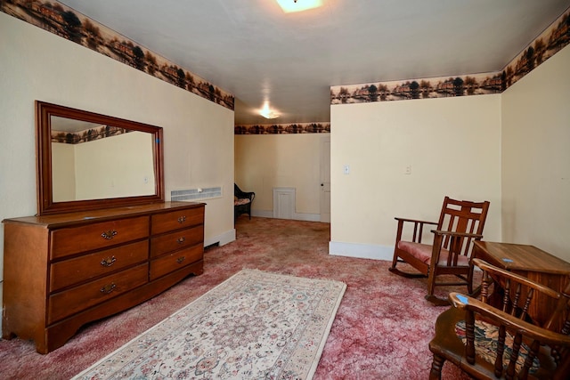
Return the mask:
<svg viewBox="0 0 570 380">
<path fill-rule="evenodd" d="M 142 240 L 50 265 L 50 293 L 62 287 L 120 271 L 149 258 L 149 242 Z"/>
</svg>

